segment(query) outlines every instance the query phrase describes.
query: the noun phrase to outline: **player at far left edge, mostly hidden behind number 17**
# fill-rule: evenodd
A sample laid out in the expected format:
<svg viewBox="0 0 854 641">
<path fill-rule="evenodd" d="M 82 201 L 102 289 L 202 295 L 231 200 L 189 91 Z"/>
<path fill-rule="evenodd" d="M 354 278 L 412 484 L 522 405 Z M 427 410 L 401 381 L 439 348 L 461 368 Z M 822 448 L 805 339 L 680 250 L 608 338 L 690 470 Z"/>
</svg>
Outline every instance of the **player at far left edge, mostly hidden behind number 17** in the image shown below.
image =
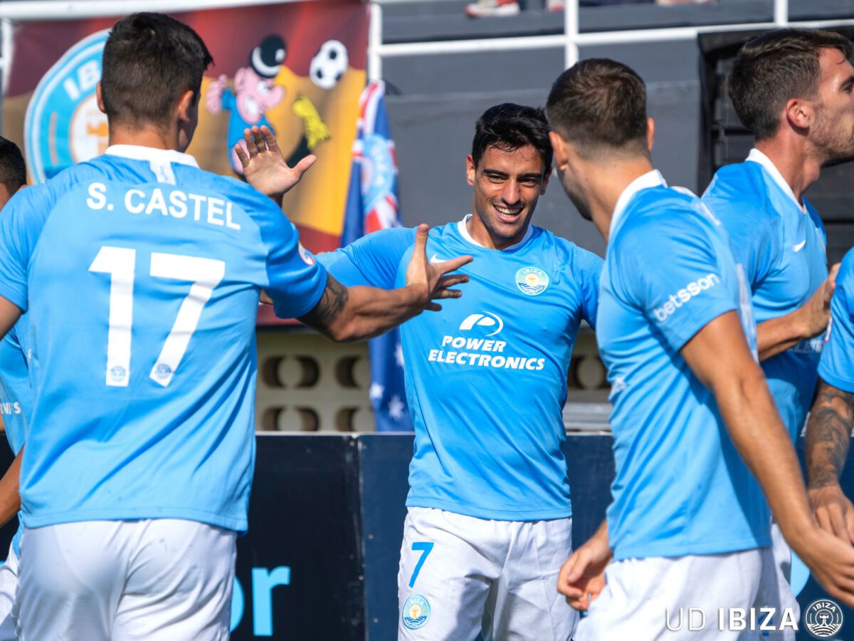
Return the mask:
<svg viewBox="0 0 854 641">
<path fill-rule="evenodd" d="M 18 145 L 0 137 L 0 209 L 3 209 L 9 198 L 24 185 L 24 156 L 21 155 Z M 28 366 L 31 356 L 29 333 L 29 324 L 24 317 L 0 340 L 0 415 L 3 416 L 3 429 L 9 447 L 15 454 L 24 444 L 26 420 L 32 410 L 33 394 Z M 8 473 L 9 479 L 6 481 L 10 483 L 0 484 L 3 491 L 3 500 L 0 500 L 0 523 L 12 518 L 19 505 L 16 482 L 18 465 L 9 468 Z M 15 603 L 15 591 L 18 589 L 18 556 L 23 529 L 23 524 L 19 524 L 18 531 L 9 545 L 9 555 L 0 566 L 0 641 L 18 638 L 15 634 L 15 620 L 12 618 L 12 604 Z"/>
</svg>

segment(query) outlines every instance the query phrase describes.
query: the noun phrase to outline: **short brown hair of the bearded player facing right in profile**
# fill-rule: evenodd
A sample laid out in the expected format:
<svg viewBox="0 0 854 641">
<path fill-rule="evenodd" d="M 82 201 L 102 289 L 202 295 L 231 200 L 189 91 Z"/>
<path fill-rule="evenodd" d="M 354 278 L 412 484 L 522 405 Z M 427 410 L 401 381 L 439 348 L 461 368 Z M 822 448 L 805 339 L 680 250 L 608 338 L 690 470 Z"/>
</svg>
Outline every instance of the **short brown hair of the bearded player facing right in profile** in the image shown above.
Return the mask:
<svg viewBox="0 0 854 641">
<path fill-rule="evenodd" d="M 822 29 L 776 29 L 741 47 L 729 74 L 729 95 L 757 140 L 775 135 L 787 101 L 816 96 L 823 49 L 851 58 L 851 40 Z"/>
</svg>

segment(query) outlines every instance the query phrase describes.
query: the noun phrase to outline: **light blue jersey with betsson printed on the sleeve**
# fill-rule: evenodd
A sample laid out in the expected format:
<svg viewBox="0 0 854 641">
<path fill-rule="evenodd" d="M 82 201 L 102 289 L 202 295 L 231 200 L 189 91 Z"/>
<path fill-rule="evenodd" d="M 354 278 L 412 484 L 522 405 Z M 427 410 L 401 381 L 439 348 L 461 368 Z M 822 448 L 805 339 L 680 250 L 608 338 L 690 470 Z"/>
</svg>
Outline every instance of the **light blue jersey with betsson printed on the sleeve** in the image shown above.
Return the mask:
<svg viewBox="0 0 854 641">
<path fill-rule="evenodd" d="M 596 325 L 614 406 L 608 534 L 618 560 L 770 543 L 762 491 L 680 354 L 732 310 L 755 350 L 750 294 L 720 223 L 660 173 L 635 180 L 611 222 Z"/>
</svg>

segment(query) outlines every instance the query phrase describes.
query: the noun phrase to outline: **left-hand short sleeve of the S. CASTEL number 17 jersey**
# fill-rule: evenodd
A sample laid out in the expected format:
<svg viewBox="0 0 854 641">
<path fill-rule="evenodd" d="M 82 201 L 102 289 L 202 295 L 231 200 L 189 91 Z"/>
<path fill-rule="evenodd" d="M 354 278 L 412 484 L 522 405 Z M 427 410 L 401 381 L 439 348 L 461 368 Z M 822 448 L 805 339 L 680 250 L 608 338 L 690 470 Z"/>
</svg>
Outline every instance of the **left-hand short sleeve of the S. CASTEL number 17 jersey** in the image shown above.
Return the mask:
<svg viewBox="0 0 854 641">
<path fill-rule="evenodd" d="M 18 191 L 0 212 L 0 296 L 23 312 L 30 257 L 52 205 L 49 187 L 35 185 Z"/>
</svg>

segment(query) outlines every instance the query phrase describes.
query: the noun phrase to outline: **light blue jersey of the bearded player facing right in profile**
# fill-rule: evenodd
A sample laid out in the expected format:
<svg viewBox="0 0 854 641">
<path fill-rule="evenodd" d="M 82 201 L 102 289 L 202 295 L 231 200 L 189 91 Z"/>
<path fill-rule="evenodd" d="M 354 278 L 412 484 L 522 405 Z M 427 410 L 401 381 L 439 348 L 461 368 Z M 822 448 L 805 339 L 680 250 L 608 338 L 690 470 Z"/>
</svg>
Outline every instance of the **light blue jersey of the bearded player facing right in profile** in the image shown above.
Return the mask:
<svg viewBox="0 0 854 641">
<path fill-rule="evenodd" d="M 795 311 L 828 278 L 822 220 L 810 203 L 800 208 L 760 151 L 721 168 L 703 201 L 727 228 L 735 260 L 744 265 L 757 324 Z M 793 440 L 816 391 L 822 340 L 804 341 L 761 363 Z"/>
</svg>

